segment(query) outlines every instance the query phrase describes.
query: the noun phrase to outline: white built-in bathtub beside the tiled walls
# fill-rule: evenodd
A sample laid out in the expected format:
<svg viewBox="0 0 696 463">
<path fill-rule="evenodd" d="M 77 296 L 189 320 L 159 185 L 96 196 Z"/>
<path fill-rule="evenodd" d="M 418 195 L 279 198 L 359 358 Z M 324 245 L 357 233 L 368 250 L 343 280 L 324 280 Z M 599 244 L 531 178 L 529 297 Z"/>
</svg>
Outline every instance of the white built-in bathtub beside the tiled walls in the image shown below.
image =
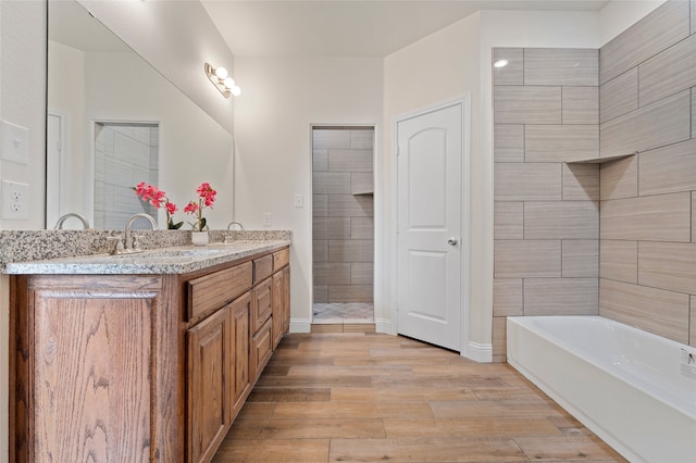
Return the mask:
<svg viewBox="0 0 696 463">
<path fill-rule="evenodd" d="M 598 316 L 508 317 L 508 362 L 631 462 L 696 462 L 696 348 Z"/>
</svg>

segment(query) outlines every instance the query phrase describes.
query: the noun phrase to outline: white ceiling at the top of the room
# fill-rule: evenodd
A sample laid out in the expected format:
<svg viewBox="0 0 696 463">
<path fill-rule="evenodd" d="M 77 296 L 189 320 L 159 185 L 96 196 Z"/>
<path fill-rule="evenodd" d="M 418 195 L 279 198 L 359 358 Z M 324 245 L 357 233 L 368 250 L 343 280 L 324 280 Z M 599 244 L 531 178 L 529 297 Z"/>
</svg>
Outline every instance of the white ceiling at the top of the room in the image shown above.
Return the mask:
<svg viewBox="0 0 696 463">
<path fill-rule="evenodd" d="M 237 57 L 386 57 L 478 10 L 599 11 L 608 0 L 201 0 Z"/>
</svg>

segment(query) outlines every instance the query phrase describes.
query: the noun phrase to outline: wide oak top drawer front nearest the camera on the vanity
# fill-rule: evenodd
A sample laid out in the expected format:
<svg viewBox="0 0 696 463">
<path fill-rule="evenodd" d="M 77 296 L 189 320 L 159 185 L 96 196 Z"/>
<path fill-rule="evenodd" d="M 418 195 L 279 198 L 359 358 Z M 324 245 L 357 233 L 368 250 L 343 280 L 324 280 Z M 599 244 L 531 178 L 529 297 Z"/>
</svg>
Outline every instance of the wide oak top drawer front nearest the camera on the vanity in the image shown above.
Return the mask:
<svg viewBox="0 0 696 463">
<path fill-rule="evenodd" d="M 252 265 L 245 262 L 188 281 L 187 320 L 220 309 L 251 288 Z"/>
</svg>

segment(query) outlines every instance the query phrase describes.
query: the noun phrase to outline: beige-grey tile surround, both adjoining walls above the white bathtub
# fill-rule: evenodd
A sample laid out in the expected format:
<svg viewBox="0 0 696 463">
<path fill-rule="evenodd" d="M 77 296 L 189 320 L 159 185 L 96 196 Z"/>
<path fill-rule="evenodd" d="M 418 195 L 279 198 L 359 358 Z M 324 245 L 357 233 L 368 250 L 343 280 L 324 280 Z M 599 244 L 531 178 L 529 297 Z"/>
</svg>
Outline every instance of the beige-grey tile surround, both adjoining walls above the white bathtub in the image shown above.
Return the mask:
<svg viewBox="0 0 696 463">
<path fill-rule="evenodd" d="M 508 315 L 599 313 L 696 345 L 695 33 L 696 1 L 671 0 L 594 71 L 596 50 L 494 50 L 510 62 L 494 75 L 494 360 Z M 606 162 L 562 162 L 591 158 Z"/>
</svg>

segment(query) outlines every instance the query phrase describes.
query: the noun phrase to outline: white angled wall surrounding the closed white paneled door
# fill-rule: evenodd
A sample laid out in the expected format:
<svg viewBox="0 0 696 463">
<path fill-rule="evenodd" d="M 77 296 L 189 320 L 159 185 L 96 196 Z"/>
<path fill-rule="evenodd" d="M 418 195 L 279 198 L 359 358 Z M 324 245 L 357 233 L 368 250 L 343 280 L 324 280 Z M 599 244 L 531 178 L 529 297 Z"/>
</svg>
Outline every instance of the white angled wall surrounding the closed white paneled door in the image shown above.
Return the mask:
<svg viewBox="0 0 696 463">
<path fill-rule="evenodd" d="M 388 55 L 384 61 L 384 149 L 380 158 L 383 175 L 377 187 L 385 197 L 384 215 L 384 242 L 388 246 L 382 252 L 385 271 L 382 278 L 375 278 L 383 288 L 385 310 L 383 317 L 396 328 L 394 301 L 396 299 L 396 160 L 393 145 L 393 129 L 395 118 L 407 113 L 424 108 L 433 107 L 444 101 L 449 101 L 469 93 L 471 98 L 472 115 L 481 105 L 480 72 L 478 72 L 478 36 L 480 14 L 473 14 L 453 25 L 439 30 L 415 43 L 412 43 L 396 53 Z M 478 118 L 471 117 L 471 139 L 469 149 L 472 161 L 478 152 Z M 471 164 L 476 167 L 475 163 Z M 469 187 L 469 180 L 464 182 L 464 188 Z M 474 247 L 469 243 L 462 249 Z M 464 252 L 464 259 L 469 253 Z M 476 271 L 476 260 L 472 259 Z M 478 288 L 471 288 L 472 291 Z M 465 314 L 464 314 L 465 315 Z M 468 334 L 464 334 L 468 337 Z M 476 341 L 476 339 L 472 339 Z"/>
</svg>

